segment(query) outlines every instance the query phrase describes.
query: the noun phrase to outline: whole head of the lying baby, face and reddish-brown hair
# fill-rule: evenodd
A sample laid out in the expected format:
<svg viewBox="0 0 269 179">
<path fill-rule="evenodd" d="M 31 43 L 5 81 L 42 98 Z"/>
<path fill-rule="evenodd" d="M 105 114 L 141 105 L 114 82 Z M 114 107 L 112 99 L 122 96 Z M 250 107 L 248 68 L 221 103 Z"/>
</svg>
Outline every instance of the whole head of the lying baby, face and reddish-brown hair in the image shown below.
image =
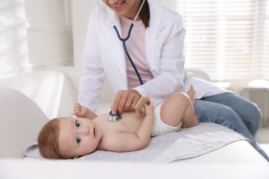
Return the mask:
<svg viewBox="0 0 269 179">
<path fill-rule="evenodd" d="M 39 151 L 45 158 L 77 158 L 92 153 L 102 133 L 87 118 L 54 118 L 39 133 Z"/>
</svg>

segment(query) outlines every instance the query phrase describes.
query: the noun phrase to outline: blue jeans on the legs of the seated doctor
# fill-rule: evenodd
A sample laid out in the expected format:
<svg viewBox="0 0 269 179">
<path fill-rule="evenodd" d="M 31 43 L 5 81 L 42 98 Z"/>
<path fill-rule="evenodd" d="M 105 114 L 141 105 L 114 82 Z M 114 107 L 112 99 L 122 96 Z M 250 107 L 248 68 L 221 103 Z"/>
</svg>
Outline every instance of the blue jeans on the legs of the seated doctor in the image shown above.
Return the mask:
<svg viewBox="0 0 269 179">
<path fill-rule="evenodd" d="M 217 123 L 250 139 L 250 144 L 269 161 L 255 135 L 261 124 L 261 111 L 255 103 L 233 93 L 208 96 L 195 101 L 195 114 L 200 123 Z"/>
</svg>

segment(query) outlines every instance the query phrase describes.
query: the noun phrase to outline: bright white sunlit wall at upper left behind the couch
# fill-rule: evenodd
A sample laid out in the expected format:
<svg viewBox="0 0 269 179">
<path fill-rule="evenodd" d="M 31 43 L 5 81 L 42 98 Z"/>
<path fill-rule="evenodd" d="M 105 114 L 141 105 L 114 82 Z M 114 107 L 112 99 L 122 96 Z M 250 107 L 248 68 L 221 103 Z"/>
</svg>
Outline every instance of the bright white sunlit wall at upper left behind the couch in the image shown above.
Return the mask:
<svg viewBox="0 0 269 179">
<path fill-rule="evenodd" d="M 0 1 L 0 78 L 72 65 L 69 0 Z"/>
</svg>

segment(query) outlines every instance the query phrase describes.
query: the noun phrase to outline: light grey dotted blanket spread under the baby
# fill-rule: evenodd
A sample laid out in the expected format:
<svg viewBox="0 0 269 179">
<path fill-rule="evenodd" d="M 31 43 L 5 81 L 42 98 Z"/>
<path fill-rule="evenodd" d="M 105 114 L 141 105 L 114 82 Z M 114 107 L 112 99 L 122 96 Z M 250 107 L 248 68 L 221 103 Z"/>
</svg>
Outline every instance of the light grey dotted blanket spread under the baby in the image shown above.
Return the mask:
<svg viewBox="0 0 269 179">
<path fill-rule="evenodd" d="M 151 138 L 148 147 L 138 151 L 94 151 L 77 160 L 126 161 L 126 162 L 173 162 L 207 154 L 237 140 L 248 140 L 232 129 L 215 123 L 200 123 L 195 127 L 182 128 L 177 132 Z M 47 160 L 39 154 L 37 143 L 29 146 L 26 156 Z"/>
</svg>

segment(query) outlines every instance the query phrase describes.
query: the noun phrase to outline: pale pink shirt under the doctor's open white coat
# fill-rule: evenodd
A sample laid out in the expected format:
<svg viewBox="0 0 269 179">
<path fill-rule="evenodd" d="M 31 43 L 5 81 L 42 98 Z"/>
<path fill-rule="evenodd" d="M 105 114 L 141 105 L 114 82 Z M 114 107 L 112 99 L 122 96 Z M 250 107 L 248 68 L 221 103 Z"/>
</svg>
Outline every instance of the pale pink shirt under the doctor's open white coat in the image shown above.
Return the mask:
<svg viewBox="0 0 269 179">
<path fill-rule="evenodd" d="M 130 24 L 132 20 L 126 19 L 125 17 L 120 17 L 121 20 L 121 32 L 122 37 L 126 38 Z M 142 21 L 136 21 L 132 28 L 132 32 L 128 41 L 126 41 L 126 48 L 130 57 L 137 67 L 143 83 L 149 81 L 153 78 L 148 66 L 146 65 L 146 47 L 145 47 L 145 32 L 146 28 Z M 125 54 L 126 56 L 126 54 Z M 137 74 L 135 73 L 132 64 L 130 63 L 128 57 L 126 56 L 126 70 L 128 78 L 128 89 L 133 89 L 140 85 Z"/>
</svg>

